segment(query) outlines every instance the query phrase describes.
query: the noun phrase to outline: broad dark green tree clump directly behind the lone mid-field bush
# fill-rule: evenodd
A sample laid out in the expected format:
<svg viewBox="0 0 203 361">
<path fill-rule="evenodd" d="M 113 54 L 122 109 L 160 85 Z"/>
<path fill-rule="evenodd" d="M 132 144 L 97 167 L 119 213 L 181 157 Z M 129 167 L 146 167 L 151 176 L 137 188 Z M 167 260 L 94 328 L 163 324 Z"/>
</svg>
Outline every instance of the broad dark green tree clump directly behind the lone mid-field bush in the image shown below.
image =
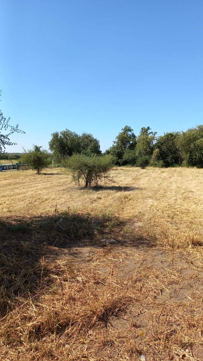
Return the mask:
<svg viewBox="0 0 203 361">
<path fill-rule="evenodd" d="M 78 135 L 68 129 L 53 133 L 49 148 L 53 152 L 54 161 L 58 163 L 74 153 L 87 156 L 101 154 L 100 142 L 92 134 L 83 133 Z"/>
</svg>

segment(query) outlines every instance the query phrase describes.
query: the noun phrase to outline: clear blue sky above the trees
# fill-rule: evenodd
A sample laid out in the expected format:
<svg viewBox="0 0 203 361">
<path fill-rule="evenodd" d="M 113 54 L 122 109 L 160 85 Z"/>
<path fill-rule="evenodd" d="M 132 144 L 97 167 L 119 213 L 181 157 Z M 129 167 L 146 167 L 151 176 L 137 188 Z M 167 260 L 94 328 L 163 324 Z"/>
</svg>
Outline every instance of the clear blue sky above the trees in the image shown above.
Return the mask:
<svg viewBox="0 0 203 361">
<path fill-rule="evenodd" d="M 0 108 L 26 131 L 7 151 L 203 123 L 202 0 L 1 0 L 0 22 Z"/>
</svg>

